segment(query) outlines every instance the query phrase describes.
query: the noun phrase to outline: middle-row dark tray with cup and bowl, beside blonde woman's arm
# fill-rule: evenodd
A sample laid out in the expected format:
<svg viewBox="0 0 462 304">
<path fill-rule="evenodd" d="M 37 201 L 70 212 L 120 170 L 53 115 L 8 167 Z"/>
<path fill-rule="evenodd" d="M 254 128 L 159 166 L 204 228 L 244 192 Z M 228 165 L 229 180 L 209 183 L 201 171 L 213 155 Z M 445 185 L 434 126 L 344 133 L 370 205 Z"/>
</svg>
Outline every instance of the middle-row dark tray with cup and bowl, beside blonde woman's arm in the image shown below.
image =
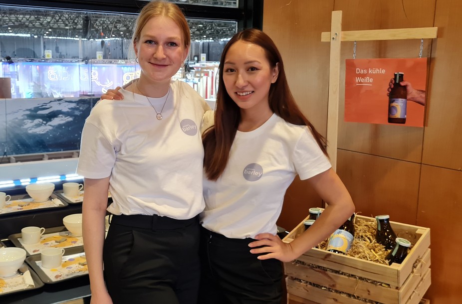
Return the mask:
<svg viewBox="0 0 462 304">
<path fill-rule="evenodd" d="M 43 249 L 56 248 L 72 248 L 82 247 L 82 236 L 73 236 L 64 226 L 46 228 L 43 235 L 40 237 L 40 242 L 36 244 L 23 244 L 21 233 L 15 233 L 8 236 L 8 239 L 15 247 L 22 248 L 26 251 L 27 256 L 37 255 Z"/>
</svg>

